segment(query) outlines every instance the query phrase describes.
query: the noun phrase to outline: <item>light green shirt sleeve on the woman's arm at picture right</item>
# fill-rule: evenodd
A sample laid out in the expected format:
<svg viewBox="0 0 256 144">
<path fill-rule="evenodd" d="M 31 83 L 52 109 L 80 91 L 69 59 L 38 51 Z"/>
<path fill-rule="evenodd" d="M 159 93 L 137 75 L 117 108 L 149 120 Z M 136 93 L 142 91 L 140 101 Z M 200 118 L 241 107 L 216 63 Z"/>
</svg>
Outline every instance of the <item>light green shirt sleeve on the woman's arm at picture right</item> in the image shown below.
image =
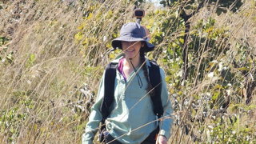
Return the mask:
<svg viewBox="0 0 256 144">
<path fill-rule="evenodd" d="M 167 86 L 166 86 L 166 80 L 165 80 L 165 73 L 164 70 L 160 68 L 160 74 L 162 77 L 162 91 L 161 91 L 161 100 L 162 100 L 162 107 L 164 110 L 164 114 L 162 116 L 162 121 L 159 122 L 160 126 L 160 135 L 166 136 L 167 139 L 170 138 L 171 133 L 171 126 L 173 124 L 173 119 L 171 118 L 171 114 L 173 112 Z"/>
</svg>

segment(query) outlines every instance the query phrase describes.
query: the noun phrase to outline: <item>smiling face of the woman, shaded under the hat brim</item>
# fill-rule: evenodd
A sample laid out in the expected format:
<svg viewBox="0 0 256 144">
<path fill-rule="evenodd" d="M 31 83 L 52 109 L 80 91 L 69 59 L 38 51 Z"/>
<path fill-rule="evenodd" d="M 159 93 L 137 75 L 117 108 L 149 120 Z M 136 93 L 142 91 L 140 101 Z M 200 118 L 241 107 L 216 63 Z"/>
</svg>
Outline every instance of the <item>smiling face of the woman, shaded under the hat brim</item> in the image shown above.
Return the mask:
<svg viewBox="0 0 256 144">
<path fill-rule="evenodd" d="M 138 57 L 141 47 L 142 42 L 122 42 L 122 50 L 126 54 L 126 58 Z"/>
</svg>

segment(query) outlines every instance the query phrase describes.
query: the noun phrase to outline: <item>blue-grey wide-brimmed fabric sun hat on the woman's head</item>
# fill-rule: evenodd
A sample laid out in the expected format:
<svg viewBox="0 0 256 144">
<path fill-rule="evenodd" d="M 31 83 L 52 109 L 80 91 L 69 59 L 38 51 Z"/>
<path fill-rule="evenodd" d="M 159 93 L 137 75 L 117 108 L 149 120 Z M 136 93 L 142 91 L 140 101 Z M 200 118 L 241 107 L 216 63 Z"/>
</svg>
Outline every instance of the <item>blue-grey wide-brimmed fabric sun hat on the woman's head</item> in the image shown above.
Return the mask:
<svg viewBox="0 0 256 144">
<path fill-rule="evenodd" d="M 123 42 L 145 42 L 144 51 L 152 51 L 154 50 L 154 45 L 148 42 L 146 36 L 146 30 L 136 22 L 129 22 L 122 26 L 120 30 L 120 37 L 115 38 L 111 45 L 114 49 L 122 50 L 122 41 Z"/>
</svg>

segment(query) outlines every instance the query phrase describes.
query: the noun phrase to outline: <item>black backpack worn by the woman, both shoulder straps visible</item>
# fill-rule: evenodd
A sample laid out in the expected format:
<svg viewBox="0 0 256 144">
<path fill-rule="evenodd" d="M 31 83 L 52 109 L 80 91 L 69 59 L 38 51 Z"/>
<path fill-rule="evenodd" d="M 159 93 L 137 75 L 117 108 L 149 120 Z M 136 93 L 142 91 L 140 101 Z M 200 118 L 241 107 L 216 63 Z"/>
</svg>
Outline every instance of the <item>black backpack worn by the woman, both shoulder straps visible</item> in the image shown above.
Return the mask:
<svg viewBox="0 0 256 144">
<path fill-rule="evenodd" d="M 154 114 L 161 118 L 163 114 L 162 101 L 161 101 L 161 90 L 162 90 L 162 78 L 160 74 L 159 66 L 156 62 L 150 61 L 149 66 L 149 77 L 150 83 L 154 89 L 153 94 L 150 95 L 150 98 L 153 102 Z M 102 105 L 100 111 L 102 113 L 102 126 L 101 131 L 106 129 L 104 123 L 106 118 L 110 114 L 110 106 L 114 101 L 114 81 L 116 77 L 116 69 L 118 63 L 110 62 L 106 66 L 105 78 L 104 78 L 104 98 L 102 100 Z M 158 127 L 159 130 L 159 127 Z"/>
</svg>

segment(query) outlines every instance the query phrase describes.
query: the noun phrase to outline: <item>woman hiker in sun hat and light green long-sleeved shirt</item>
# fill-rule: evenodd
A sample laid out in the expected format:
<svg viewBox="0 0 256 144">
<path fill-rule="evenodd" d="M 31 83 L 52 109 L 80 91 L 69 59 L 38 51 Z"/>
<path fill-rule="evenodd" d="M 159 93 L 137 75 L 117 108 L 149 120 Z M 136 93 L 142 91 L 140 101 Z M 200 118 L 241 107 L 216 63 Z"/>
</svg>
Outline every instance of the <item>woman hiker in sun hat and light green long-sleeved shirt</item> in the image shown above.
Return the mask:
<svg viewBox="0 0 256 144">
<path fill-rule="evenodd" d="M 114 48 L 122 49 L 123 55 L 115 59 L 118 62 L 114 82 L 114 102 L 106 118 L 104 142 L 111 144 L 166 144 L 170 138 L 172 108 L 168 98 L 165 74 L 160 68 L 162 78 L 161 102 L 164 110 L 162 120 L 154 114 L 150 98 L 149 71 L 150 61 L 145 53 L 154 50 L 154 45 L 146 41 L 146 30 L 136 22 L 122 26 L 120 37 L 111 42 Z M 82 143 L 93 143 L 94 135 L 102 121 L 100 107 L 104 97 L 104 77 L 98 89 L 98 96 L 91 108 L 89 122 L 86 124 Z M 159 127 L 159 129 L 158 129 Z M 158 137 L 155 132 L 158 129 Z"/>
</svg>

